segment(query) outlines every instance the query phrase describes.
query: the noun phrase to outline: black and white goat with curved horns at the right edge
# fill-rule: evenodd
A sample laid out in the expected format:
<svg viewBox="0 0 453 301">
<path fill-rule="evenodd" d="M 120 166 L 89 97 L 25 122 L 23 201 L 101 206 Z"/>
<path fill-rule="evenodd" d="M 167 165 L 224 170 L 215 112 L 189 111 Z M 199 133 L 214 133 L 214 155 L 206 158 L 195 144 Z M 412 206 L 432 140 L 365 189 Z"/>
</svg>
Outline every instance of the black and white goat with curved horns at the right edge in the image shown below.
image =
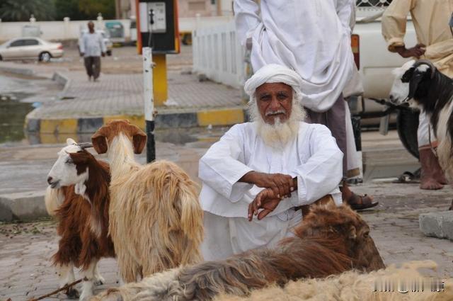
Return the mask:
<svg viewBox="0 0 453 301">
<path fill-rule="evenodd" d="M 409 102 L 425 111 L 439 142 L 439 164 L 453 183 L 453 79 L 424 59 L 406 62 L 394 70 L 394 76 L 390 101 L 397 105 Z"/>
</svg>

